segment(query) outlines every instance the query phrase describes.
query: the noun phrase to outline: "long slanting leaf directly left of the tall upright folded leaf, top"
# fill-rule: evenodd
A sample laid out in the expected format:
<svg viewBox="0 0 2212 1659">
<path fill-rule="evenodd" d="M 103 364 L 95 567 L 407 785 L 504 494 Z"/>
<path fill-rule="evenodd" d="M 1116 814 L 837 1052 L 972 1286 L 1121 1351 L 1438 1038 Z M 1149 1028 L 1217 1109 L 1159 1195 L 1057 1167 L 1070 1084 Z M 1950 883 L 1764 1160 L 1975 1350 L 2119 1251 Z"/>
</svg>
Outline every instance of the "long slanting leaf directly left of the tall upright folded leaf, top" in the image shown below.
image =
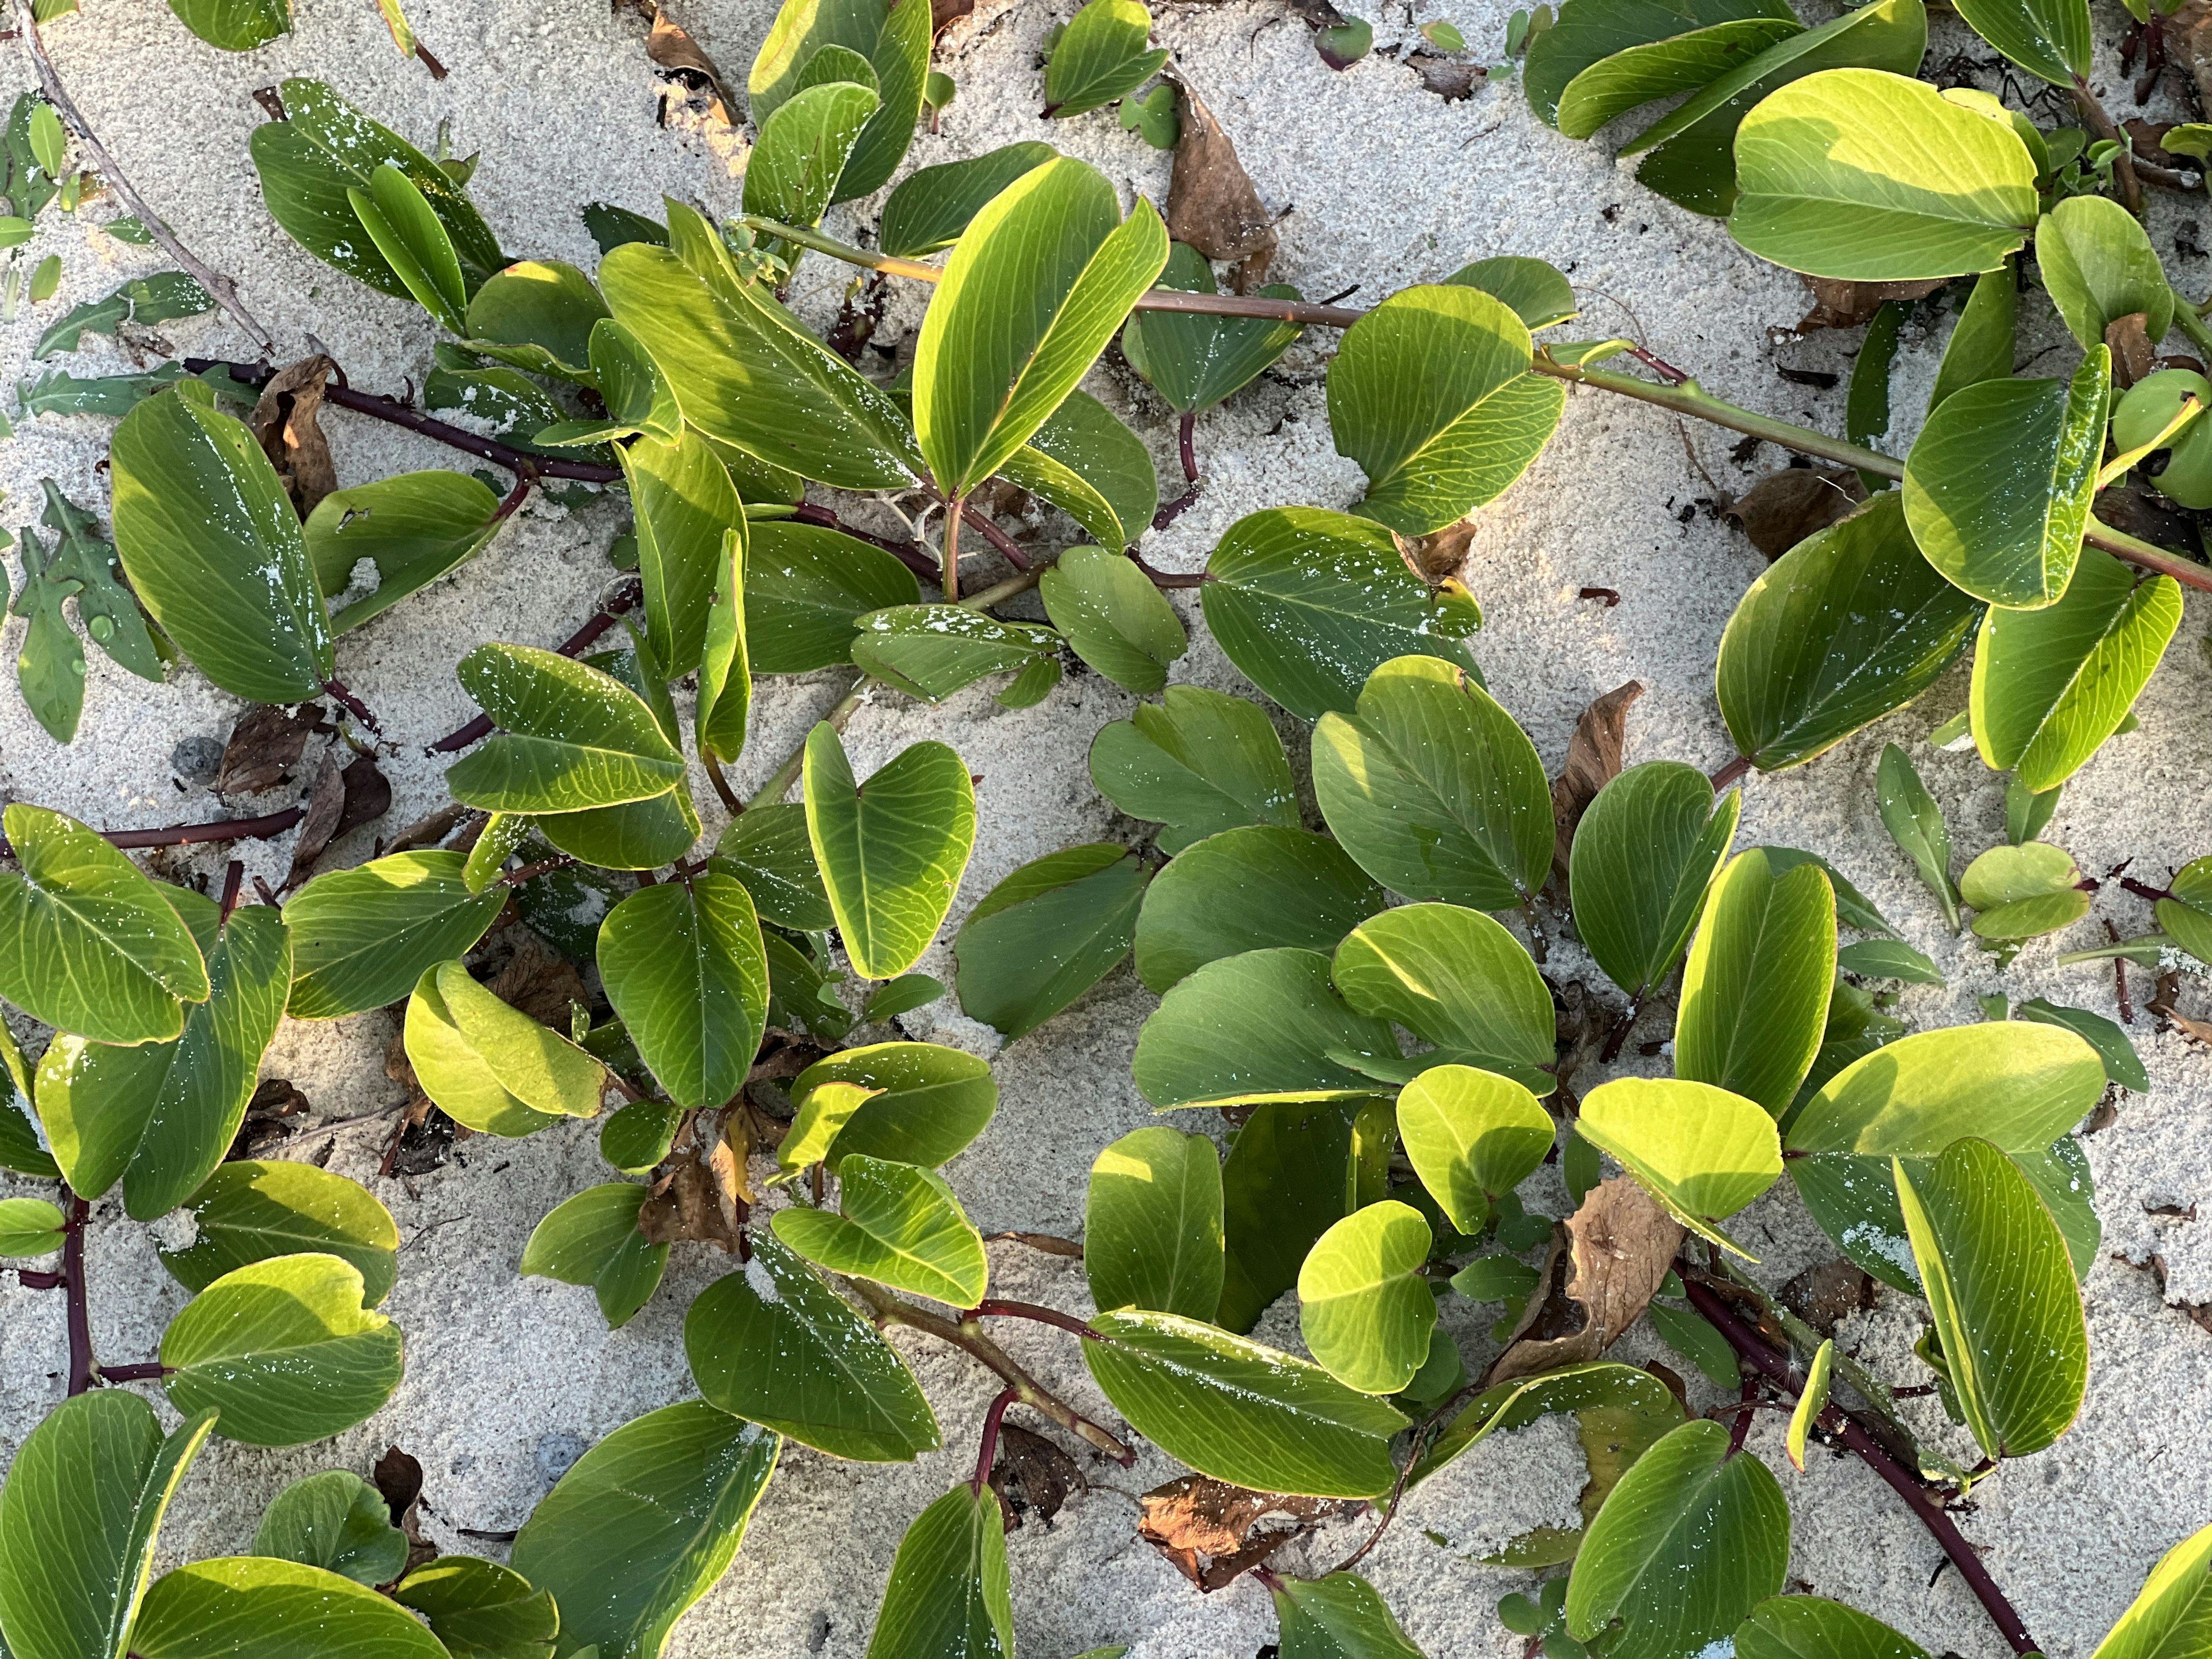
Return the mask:
<svg viewBox="0 0 2212 1659">
<path fill-rule="evenodd" d="M 743 283 L 714 228 L 681 204 L 670 206 L 679 223 L 703 270 L 633 241 L 599 261 L 599 290 L 668 380 L 684 425 L 836 489 L 911 489 L 920 453 L 889 394 Z"/>
</svg>

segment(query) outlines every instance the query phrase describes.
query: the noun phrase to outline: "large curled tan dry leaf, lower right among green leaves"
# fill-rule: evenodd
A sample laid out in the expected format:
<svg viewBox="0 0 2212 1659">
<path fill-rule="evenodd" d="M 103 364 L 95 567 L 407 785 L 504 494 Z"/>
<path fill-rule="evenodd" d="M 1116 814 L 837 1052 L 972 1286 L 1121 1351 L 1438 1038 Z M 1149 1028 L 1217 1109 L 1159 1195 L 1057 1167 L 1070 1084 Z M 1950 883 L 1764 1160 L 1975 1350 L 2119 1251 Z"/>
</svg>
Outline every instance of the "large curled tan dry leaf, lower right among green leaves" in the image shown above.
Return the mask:
<svg viewBox="0 0 2212 1659">
<path fill-rule="evenodd" d="M 1590 1188 L 1562 1230 L 1540 1281 L 1551 1290 L 1528 1298 L 1522 1329 L 1482 1387 L 1595 1360 L 1644 1316 L 1683 1241 L 1681 1223 L 1626 1175 Z"/>
</svg>

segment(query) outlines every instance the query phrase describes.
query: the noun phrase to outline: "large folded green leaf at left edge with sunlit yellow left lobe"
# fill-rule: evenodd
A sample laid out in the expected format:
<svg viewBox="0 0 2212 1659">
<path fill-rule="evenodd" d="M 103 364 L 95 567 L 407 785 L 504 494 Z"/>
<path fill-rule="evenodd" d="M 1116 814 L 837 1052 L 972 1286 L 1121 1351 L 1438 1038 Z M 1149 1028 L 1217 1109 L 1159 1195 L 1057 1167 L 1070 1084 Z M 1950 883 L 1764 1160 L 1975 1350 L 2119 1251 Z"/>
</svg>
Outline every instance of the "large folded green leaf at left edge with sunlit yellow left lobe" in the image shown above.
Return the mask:
<svg viewBox="0 0 2212 1659">
<path fill-rule="evenodd" d="M 58 1033 L 38 1062 L 38 1117 L 71 1190 L 95 1199 L 122 1181 L 137 1221 L 184 1203 L 230 1150 L 292 987 L 281 911 L 248 905 L 219 927 L 212 900 L 177 889 L 173 902 L 212 987 L 184 1035 L 115 1048 Z"/>
</svg>

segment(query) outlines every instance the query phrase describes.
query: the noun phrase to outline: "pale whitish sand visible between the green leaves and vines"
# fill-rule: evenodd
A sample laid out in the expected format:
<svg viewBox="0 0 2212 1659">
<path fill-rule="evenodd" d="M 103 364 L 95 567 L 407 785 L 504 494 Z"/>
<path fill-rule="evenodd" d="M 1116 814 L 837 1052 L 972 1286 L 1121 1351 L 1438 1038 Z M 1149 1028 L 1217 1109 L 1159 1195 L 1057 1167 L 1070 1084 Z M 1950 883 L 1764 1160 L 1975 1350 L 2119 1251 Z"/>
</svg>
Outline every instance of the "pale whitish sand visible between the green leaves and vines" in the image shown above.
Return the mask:
<svg viewBox="0 0 2212 1659">
<path fill-rule="evenodd" d="M 261 119 L 250 100 L 257 86 L 323 75 L 425 146 L 449 124 L 456 155 L 482 150 L 473 195 L 515 254 L 588 268 L 595 250 L 577 208 L 593 199 L 650 210 L 670 192 L 723 212 L 737 206 L 743 137 L 684 115 L 661 124 L 661 88 L 641 51 L 641 24 L 611 15 L 602 0 L 411 0 L 422 38 L 451 66 L 445 82 L 392 51 L 367 0 L 296 0 L 296 33 L 248 58 L 201 46 L 153 0 L 86 0 L 86 15 L 53 27 L 49 38 L 86 115 L 148 199 L 190 246 L 239 279 L 288 352 L 305 352 L 314 338 L 354 385 L 383 392 L 420 385 L 434 330 L 414 307 L 358 290 L 312 261 L 265 217 L 246 157 L 248 133 Z M 1037 44 L 1071 9 L 1046 0 L 1018 9 L 984 4 L 956 24 L 940 64 L 960 80 L 960 97 L 942 133 L 916 142 L 911 164 L 1048 137 L 1126 190 L 1159 201 L 1166 157 L 1121 133 L 1110 111 L 1062 124 L 1037 117 Z M 741 82 L 770 11 L 759 0 L 688 0 L 677 15 Z M 1385 46 L 1409 40 L 1418 22 L 1440 15 L 1480 55 L 1495 55 L 1506 20 L 1502 0 L 1451 9 L 1394 0 L 1376 18 L 1378 40 Z M 1305 29 L 1263 0 L 1166 7 L 1159 38 L 1234 135 L 1263 199 L 1283 215 L 1279 279 L 1310 296 L 1358 283 L 1360 299 L 1371 301 L 1469 259 L 1542 254 L 1575 281 L 1588 332 L 1639 334 L 1723 396 L 1840 427 L 1840 392 L 1785 383 L 1776 365 L 1847 369 L 1856 336 L 1770 336 L 1805 310 L 1794 276 L 1736 250 L 1719 226 L 1641 190 L 1613 168 L 1606 146 L 1571 144 L 1535 124 L 1513 82 L 1478 86 L 1471 100 L 1447 104 L 1383 53 L 1332 75 Z M 1940 51 L 1958 44 L 1964 42 Z M 31 84 L 20 46 L 0 62 L 9 64 L 9 93 Z M 2106 73 L 2110 62 L 2106 44 L 2099 53 Z M 2112 82 L 2117 95 L 2117 75 Z M 878 206 L 856 204 L 849 217 L 838 210 L 830 228 L 865 226 Z M 95 204 L 75 219 L 42 219 L 38 241 L 24 252 L 29 259 L 60 252 L 66 276 L 55 301 L 0 332 L 7 380 L 29 372 L 31 345 L 60 307 L 104 294 L 131 272 L 161 268 L 157 250 L 128 248 L 93 228 L 113 212 Z M 2163 239 L 2185 226 L 2185 246 L 2197 246 L 2201 217 L 2194 199 L 2154 201 Z M 2192 263 L 2174 270 L 2185 288 L 2201 285 L 2190 281 L 2201 279 Z M 823 316 L 843 281 L 841 268 L 805 265 L 796 283 L 801 305 Z M 889 321 L 898 330 L 916 316 L 911 299 L 902 299 Z M 250 354 L 221 316 L 166 325 L 161 334 L 179 352 Z M 2022 356 L 2055 338 L 2048 310 L 2031 303 Z M 1301 345 L 1261 385 L 1201 420 L 1206 493 L 1172 531 L 1148 542 L 1155 562 L 1199 566 L 1221 531 L 1256 507 L 1343 507 L 1358 493 L 1358 471 L 1334 453 L 1325 422 L 1321 376 L 1332 343 L 1323 336 Z M 1907 387 L 1924 389 L 1940 345 L 1940 334 L 1907 338 L 1900 407 L 1918 407 Z M 113 341 L 88 341 L 71 363 L 97 374 L 122 372 L 131 361 L 133 352 Z M 1148 434 L 1164 473 L 1172 473 L 1172 427 L 1161 407 L 1117 367 L 1099 369 L 1093 387 Z M 341 482 L 456 462 L 449 451 L 347 416 L 334 416 L 330 431 Z M 35 520 L 44 476 L 104 511 L 106 434 L 108 422 L 91 418 L 24 422 L 0 445 L 4 522 L 20 529 Z M 1893 434 L 1896 445 L 1905 438 L 1902 429 Z M 1708 478 L 1741 489 L 1778 465 L 1772 449 L 1750 467 L 1734 465 L 1732 442 L 1717 431 L 1683 436 L 1668 416 L 1579 394 L 1544 458 L 1482 513 L 1467 566 L 1489 613 L 1478 650 L 1491 688 L 1553 768 L 1584 703 L 1626 679 L 1648 688 L 1630 721 L 1632 759 L 1679 757 L 1712 768 L 1728 757 L 1712 657 L 1761 557 L 1694 502 L 1712 498 Z M 442 801 L 440 768 L 422 759 L 420 745 L 473 712 L 453 681 L 453 659 L 484 639 L 553 644 L 568 633 L 613 577 L 604 551 L 619 524 L 619 509 L 608 504 L 575 513 L 533 504 L 491 553 L 343 641 L 341 677 L 383 714 L 398 745 L 385 761 L 396 787 L 385 832 Z M 1586 586 L 1615 588 L 1621 602 L 1606 608 L 1579 599 Z M 2192 602 L 2141 703 L 2141 730 L 2110 743 L 2068 785 L 2046 832 L 2093 874 L 2132 858 L 2137 874 L 2157 878 L 2208 852 L 2212 834 L 2201 801 L 2212 774 L 2212 734 L 2197 684 L 2203 624 L 2205 613 Z M 13 653 L 18 637 L 20 624 L 9 624 L 0 648 Z M 1177 677 L 1241 688 L 1203 633 Z M 827 677 L 763 681 L 739 781 L 763 779 L 834 695 Z M 1955 675 L 1920 708 L 1816 765 L 1754 779 L 1745 843 L 1827 854 L 1944 967 L 1949 989 L 1905 993 L 1900 1013 L 1916 1026 L 1971 1020 L 1971 998 L 1993 989 L 2112 1013 L 2110 969 L 2055 969 L 2051 958 L 2064 942 L 2095 938 L 2106 916 L 2124 933 L 2143 931 L 2148 914 L 2139 900 L 2108 885 L 2097 900 L 2099 920 L 2084 922 L 2070 940 L 2031 945 L 1997 973 L 1991 958 L 1942 931 L 1933 902 L 1882 836 L 1874 812 L 1882 741 L 1918 743 L 1964 695 L 1964 675 Z M 847 741 L 865 772 L 922 734 L 942 737 L 982 774 L 982 834 L 956 905 L 958 922 L 1015 865 L 1073 841 L 1133 832 L 1097 799 L 1084 768 L 1091 734 L 1128 708 L 1126 695 L 1077 672 L 1044 706 L 1024 712 L 1000 710 L 987 690 L 971 690 L 945 710 L 883 697 L 854 719 Z M 166 688 L 146 688 L 95 653 L 84 726 L 71 748 L 58 748 L 33 726 L 13 688 L 0 690 L 0 796 L 60 807 L 102 827 L 217 816 L 223 805 L 179 772 L 177 745 L 221 741 L 237 712 L 232 699 L 188 670 Z M 1951 814 L 1960 863 L 2002 838 L 2002 781 L 1971 754 L 1920 745 L 1916 757 Z M 294 796 L 296 785 L 232 805 L 270 810 Z M 719 827 L 710 796 L 703 790 L 699 796 L 708 803 L 708 827 Z M 367 843 L 369 832 L 361 832 L 341 854 L 367 856 Z M 257 874 L 276 878 L 290 845 L 250 847 L 246 856 Z M 922 967 L 951 978 L 942 951 Z M 1555 953 L 1555 971 L 1586 969 L 1568 947 Z M 2139 982 L 2139 1000 L 2148 989 Z M 1095 1150 L 1148 1121 L 1128 1082 L 1128 1057 L 1150 1006 L 1152 998 L 1121 971 L 998 1055 L 998 1121 L 949 1168 L 987 1232 L 1079 1230 Z M 978 1053 L 998 1046 L 995 1035 L 949 1006 L 907 1015 L 905 1031 Z M 2212 1057 L 2141 1015 L 2132 1035 L 2154 1093 L 2128 1097 L 2117 1121 L 2088 1139 L 2106 1225 L 2106 1256 L 2086 1283 L 2095 1347 L 2088 1405 L 2057 1449 L 1986 1482 L 1964 1520 L 2046 1650 L 2068 1657 L 2088 1655 L 2163 1548 L 2212 1520 L 2205 1473 L 2212 1413 L 2203 1409 L 2212 1336 L 2161 1305 L 2157 1281 L 2141 1265 L 2157 1252 L 2174 1301 L 2212 1301 L 2212 1217 L 2185 1219 L 2192 1206 L 2212 1199 L 2205 1117 Z M 367 1113 L 396 1099 L 380 1064 L 387 1037 L 383 1015 L 288 1024 L 265 1073 L 290 1077 L 323 1117 Z M 330 1166 L 374 1181 L 378 1141 L 374 1128 L 341 1130 Z M 613 1334 L 588 1292 L 515 1276 L 538 1217 L 597 1179 L 604 1166 L 595 1135 L 575 1128 L 531 1141 L 476 1139 L 442 1170 L 378 1183 L 405 1239 L 389 1301 L 407 1332 L 405 1385 L 385 1411 L 334 1444 L 265 1453 L 217 1442 L 173 1513 L 164 1557 L 243 1548 L 261 1504 L 283 1480 L 323 1467 L 367 1469 L 387 1444 L 422 1460 L 429 1528 L 440 1544 L 498 1553 L 458 1528 L 518 1526 L 591 1440 L 681 1398 L 688 1391 L 681 1316 L 726 1261 L 679 1252 L 653 1305 Z M 1540 1199 L 1564 1206 L 1562 1192 Z M 1770 1199 L 1745 1221 L 1770 1283 L 1832 1254 L 1794 1199 Z M 146 1230 L 122 1221 L 113 1203 L 97 1212 L 91 1272 L 100 1354 L 111 1360 L 153 1354 L 184 1296 L 159 1270 Z M 993 1274 L 1000 1294 L 1086 1307 L 1082 1274 L 1071 1263 L 993 1245 Z M 1469 1338 L 1469 1363 L 1480 1365 L 1489 1354 L 1480 1334 L 1484 1312 L 1460 1305 L 1453 1316 Z M 1913 1307 L 1887 1298 L 1847 1334 L 1869 1363 L 1916 1380 L 1909 1352 L 1916 1332 Z M 1263 1334 L 1294 1343 L 1294 1310 L 1274 1310 Z M 1648 1340 L 1632 1336 L 1619 1352 L 1641 1360 Z M 1064 1385 L 1079 1409 L 1108 1411 L 1066 1338 L 1018 1327 L 1006 1343 Z M 995 1387 L 964 1356 L 911 1345 L 909 1352 L 938 1402 L 949 1449 L 900 1469 L 787 1451 L 737 1566 L 677 1628 L 670 1652 L 737 1659 L 863 1650 L 900 1531 L 967 1471 Z M 62 1365 L 60 1298 L 0 1287 L 0 1462 L 60 1398 Z M 1781 1469 L 1792 1495 L 1798 1588 L 1845 1597 L 1931 1652 L 1991 1659 L 2002 1650 L 1958 1575 L 1938 1575 L 1936 1544 L 1869 1471 L 1816 1455 L 1809 1473 L 1790 1473 L 1778 1420 L 1763 1420 L 1752 1444 Z M 1272 1641 L 1274 1617 L 1256 1588 L 1201 1599 L 1135 1540 L 1135 1493 L 1172 1473 L 1157 1453 L 1126 1473 L 1095 1467 L 1093 1486 L 1051 1526 L 1033 1522 L 1011 1537 L 1022 1652 L 1062 1659 L 1124 1641 L 1144 1659 L 1245 1659 Z M 1467 1551 L 1568 1515 L 1579 1484 L 1579 1455 L 1557 1427 L 1493 1442 L 1420 1493 L 1409 1524 L 1389 1533 L 1367 1571 L 1433 1659 L 1506 1659 L 1520 1641 L 1498 1624 L 1493 1604 L 1506 1590 L 1528 1588 L 1528 1577 L 1471 1564 Z M 1433 1544 L 1425 1528 L 1451 1537 L 1453 1548 Z M 1358 1535 L 1360 1528 L 1340 1526 L 1318 1540 L 1310 1566 L 1321 1571 L 1340 1559 Z"/>
</svg>

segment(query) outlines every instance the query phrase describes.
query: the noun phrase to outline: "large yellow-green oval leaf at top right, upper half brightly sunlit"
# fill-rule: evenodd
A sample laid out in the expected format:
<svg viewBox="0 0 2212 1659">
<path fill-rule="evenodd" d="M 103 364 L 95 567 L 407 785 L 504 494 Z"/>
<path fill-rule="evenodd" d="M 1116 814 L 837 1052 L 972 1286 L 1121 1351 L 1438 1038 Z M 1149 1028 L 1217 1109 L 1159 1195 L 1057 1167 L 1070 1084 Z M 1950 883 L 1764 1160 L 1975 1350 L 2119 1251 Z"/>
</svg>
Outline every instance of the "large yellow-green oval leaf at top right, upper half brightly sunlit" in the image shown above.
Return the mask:
<svg viewBox="0 0 2212 1659">
<path fill-rule="evenodd" d="M 1767 97 L 1736 128 L 1736 184 L 1728 232 L 1807 276 L 1964 276 L 2035 228 L 2020 137 L 1882 69 L 1827 69 Z"/>
</svg>

